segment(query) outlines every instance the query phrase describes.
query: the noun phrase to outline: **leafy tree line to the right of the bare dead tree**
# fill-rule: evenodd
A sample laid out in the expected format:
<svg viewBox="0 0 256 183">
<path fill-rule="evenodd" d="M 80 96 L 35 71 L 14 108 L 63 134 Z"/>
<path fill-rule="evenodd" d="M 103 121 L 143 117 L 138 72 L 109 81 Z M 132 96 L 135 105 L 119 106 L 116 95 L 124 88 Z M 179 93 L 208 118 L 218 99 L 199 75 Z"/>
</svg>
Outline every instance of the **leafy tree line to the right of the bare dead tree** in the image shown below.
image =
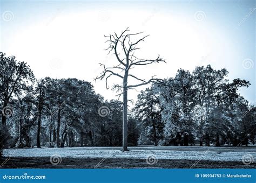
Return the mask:
<svg viewBox="0 0 256 183">
<path fill-rule="evenodd" d="M 165 85 L 141 91 L 133 115 L 143 124 L 139 143 L 154 145 L 248 145 L 255 143 L 256 108 L 240 96 L 246 80 L 226 79 L 210 65 L 179 69 Z"/>
</svg>

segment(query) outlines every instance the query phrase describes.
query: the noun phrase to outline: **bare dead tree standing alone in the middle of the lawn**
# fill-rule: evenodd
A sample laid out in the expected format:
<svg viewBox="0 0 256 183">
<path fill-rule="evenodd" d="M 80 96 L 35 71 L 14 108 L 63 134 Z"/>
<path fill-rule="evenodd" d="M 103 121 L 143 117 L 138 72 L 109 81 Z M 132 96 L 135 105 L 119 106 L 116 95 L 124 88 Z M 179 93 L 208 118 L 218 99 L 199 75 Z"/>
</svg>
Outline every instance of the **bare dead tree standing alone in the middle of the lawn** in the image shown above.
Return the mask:
<svg viewBox="0 0 256 183">
<path fill-rule="evenodd" d="M 139 86 L 147 85 L 149 83 L 162 83 L 163 80 L 156 79 L 154 76 L 150 80 L 140 79 L 135 75 L 129 73 L 129 71 L 136 66 L 145 66 L 150 64 L 155 64 L 159 62 L 165 62 L 160 56 L 154 60 L 150 59 L 139 59 L 134 55 L 136 50 L 139 50 L 138 44 L 147 36 L 142 37 L 136 41 L 132 41 L 131 38 L 134 36 L 138 36 L 143 32 L 138 33 L 129 33 L 129 27 L 123 31 L 119 36 L 117 33 L 110 34 L 109 36 L 105 36 L 107 41 L 105 43 L 109 43 L 109 47 L 106 48 L 106 51 L 109 51 L 108 54 L 113 53 L 116 55 L 118 64 L 112 67 L 106 67 L 104 64 L 100 64 L 103 67 L 103 72 L 100 76 L 97 76 L 95 80 L 103 80 L 105 78 L 106 88 L 109 89 L 107 85 L 107 80 L 111 76 L 116 76 L 123 80 L 123 85 L 116 84 L 112 87 L 112 90 L 117 90 L 120 92 L 117 96 L 120 97 L 123 95 L 123 151 L 128 151 L 127 149 L 127 91 L 129 89 L 134 89 Z M 123 57 L 118 52 L 118 49 L 121 49 L 123 52 Z M 134 85 L 128 85 L 128 78 L 133 78 L 139 83 Z"/>
</svg>

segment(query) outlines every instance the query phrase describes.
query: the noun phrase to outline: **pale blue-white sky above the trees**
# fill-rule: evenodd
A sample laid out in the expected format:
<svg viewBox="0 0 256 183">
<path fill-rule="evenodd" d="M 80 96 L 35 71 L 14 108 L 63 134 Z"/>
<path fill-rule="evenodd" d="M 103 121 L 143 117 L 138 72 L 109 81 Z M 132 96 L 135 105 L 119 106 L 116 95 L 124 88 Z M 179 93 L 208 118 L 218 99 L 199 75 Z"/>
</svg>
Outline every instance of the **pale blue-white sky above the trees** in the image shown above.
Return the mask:
<svg viewBox="0 0 256 183">
<path fill-rule="evenodd" d="M 228 79 L 245 79 L 239 92 L 255 103 L 256 1 L 4 1 L 1 4 L 0 51 L 30 65 L 36 78 L 77 78 L 90 81 L 97 93 L 110 100 L 116 93 L 95 82 L 102 68 L 116 65 L 104 51 L 104 34 L 150 34 L 137 55 L 165 59 L 135 68 L 143 79 L 174 77 L 182 68 L 210 64 L 226 68 Z M 112 78 L 112 83 L 122 82 Z M 134 84 L 133 81 L 131 81 Z M 135 83 L 136 84 L 136 83 Z M 139 90 L 129 91 L 136 101 Z"/>
</svg>

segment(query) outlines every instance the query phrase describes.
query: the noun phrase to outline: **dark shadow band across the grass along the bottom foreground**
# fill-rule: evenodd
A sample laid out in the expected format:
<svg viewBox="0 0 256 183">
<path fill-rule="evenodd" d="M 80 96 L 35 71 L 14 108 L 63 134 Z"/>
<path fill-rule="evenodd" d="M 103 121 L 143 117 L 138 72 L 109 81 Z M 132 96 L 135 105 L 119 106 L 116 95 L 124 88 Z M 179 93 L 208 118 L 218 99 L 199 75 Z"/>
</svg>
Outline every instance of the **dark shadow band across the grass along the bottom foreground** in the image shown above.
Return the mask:
<svg viewBox="0 0 256 183">
<path fill-rule="evenodd" d="M 8 157 L 1 159 L 1 164 Z M 58 165 L 50 163 L 50 157 L 10 157 L 0 168 L 256 168 L 256 164 L 244 165 L 242 161 L 212 161 L 187 159 L 158 159 L 149 165 L 145 159 L 131 158 L 62 158 Z M 100 164 L 99 164 L 100 163 Z M 1 165 L 0 164 L 0 165 Z"/>
</svg>

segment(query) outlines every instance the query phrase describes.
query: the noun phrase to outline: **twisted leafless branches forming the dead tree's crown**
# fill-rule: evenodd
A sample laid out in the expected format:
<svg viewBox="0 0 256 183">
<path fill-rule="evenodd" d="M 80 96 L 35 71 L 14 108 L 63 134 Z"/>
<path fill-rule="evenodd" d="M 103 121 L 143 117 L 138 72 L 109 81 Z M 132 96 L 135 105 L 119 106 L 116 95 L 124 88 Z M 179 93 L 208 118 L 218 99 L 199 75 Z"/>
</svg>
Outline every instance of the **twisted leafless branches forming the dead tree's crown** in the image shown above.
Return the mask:
<svg viewBox="0 0 256 183">
<path fill-rule="evenodd" d="M 138 34 L 142 34 L 143 32 L 128 34 L 128 33 L 126 33 L 127 31 L 130 31 L 129 27 L 127 27 L 127 29 L 125 29 L 125 31 L 123 31 L 120 35 L 118 35 L 116 32 L 114 32 L 113 34 L 110 34 L 109 36 L 105 36 L 106 38 L 108 38 L 106 43 L 109 43 L 109 47 L 107 47 L 106 50 L 109 51 L 109 53 L 112 52 L 112 51 L 114 52 L 114 54 L 116 55 L 116 58 L 117 58 L 119 64 L 116 65 L 116 66 L 113 66 L 113 67 L 105 67 L 105 65 L 100 64 L 101 66 L 104 67 L 104 71 L 102 72 L 102 75 L 98 76 L 95 80 L 97 80 L 97 79 L 102 80 L 103 78 L 106 77 L 105 78 L 106 79 L 105 85 L 106 85 L 107 89 L 109 89 L 109 86 L 107 86 L 107 80 L 112 75 L 118 76 L 119 78 L 122 78 L 124 80 L 126 80 L 127 76 L 131 76 L 132 78 L 134 78 L 134 79 L 136 79 L 136 80 L 141 82 L 138 85 L 127 86 L 127 90 L 128 89 L 132 89 L 134 87 L 139 87 L 139 86 L 147 85 L 148 83 L 162 83 L 163 84 L 164 80 L 153 78 L 154 76 L 149 81 L 145 81 L 144 79 L 140 79 L 140 78 L 138 78 L 135 75 L 128 74 L 129 73 L 129 69 L 132 69 L 134 66 L 150 65 L 150 64 L 153 64 L 153 63 L 165 62 L 165 60 L 160 58 L 159 55 L 158 55 L 157 59 L 155 59 L 155 60 L 139 59 L 139 58 L 137 58 L 134 55 L 134 52 L 136 50 L 140 49 L 139 47 L 137 47 L 137 45 L 141 41 L 144 41 L 144 39 L 146 37 L 149 37 L 149 35 L 144 36 L 143 38 L 141 38 L 141 39 L 137 40 L 136 42 L 132 43 L 131 42 L 131 36 L 136 36 Z M 120 58 L 120 54 L 117 52 L 118 44 L 120 44 L 120 46 L 122 46 L 122 50 L 124 51 L 125 58 L 122 58 L 122 59 Z M 127 48 L 129 48 L 129 49 L 127 49 Z M 121 67 L 121 65 L 125 66 L 125 68 Z M 122 71 L 125 71 L 125 75 L 122 76 L 122 75 L 118 74 L 117 72 L 112 71 L 113 69 L 121 69 Z M 109 75 L 107 75 L 107 73 Z M 127 80 L 124 81 L 124 82 L 127 82 Z M 119 85 L 119 84 L 114 85 L 112 87 L 112 90 L 116 90 L 116 89 L 118 91 L 123 90 L 124 86 Z M 124 91 L 122 91 L 122 93 L 118 94 L 117 96 L 122 95 L 123 93 L 124 93 Z"/>
</svg>

